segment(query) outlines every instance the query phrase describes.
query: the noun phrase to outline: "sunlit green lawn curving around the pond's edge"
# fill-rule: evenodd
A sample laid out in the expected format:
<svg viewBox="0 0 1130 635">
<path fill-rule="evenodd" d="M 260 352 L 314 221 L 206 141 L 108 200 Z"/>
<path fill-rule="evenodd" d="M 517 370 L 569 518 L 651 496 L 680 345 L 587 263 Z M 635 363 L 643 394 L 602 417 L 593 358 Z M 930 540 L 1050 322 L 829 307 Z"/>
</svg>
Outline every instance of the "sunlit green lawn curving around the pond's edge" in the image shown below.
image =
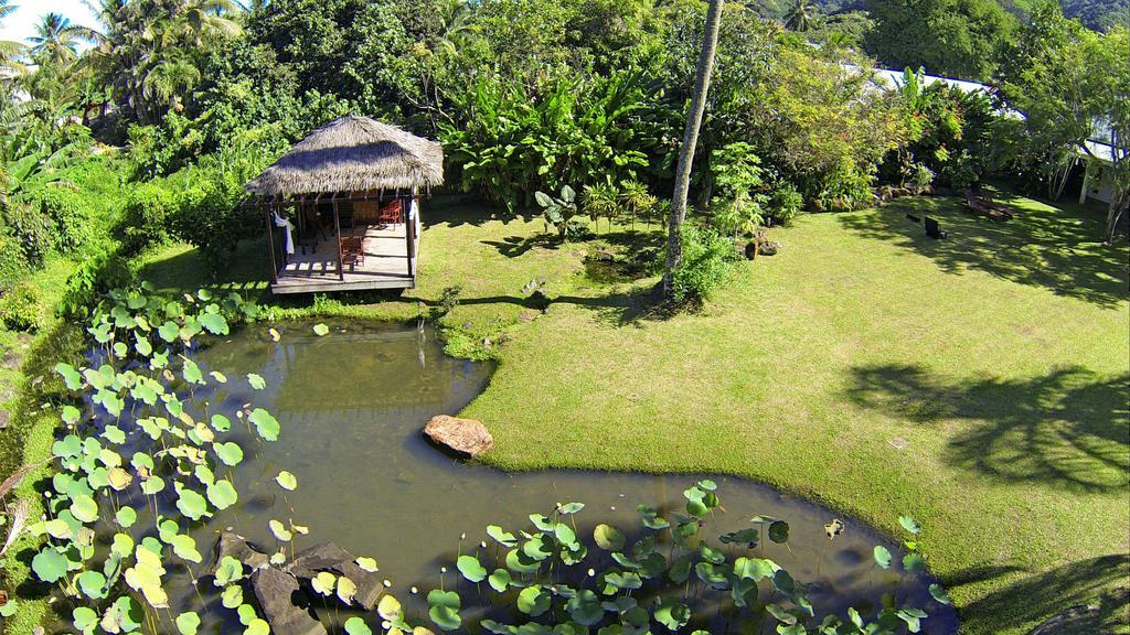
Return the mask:
<svg viewBox="0 0 1130 635">
<path fill-rule="evenodd" d="M 951 199 L 801 217 L 773 232 L 779 255 L 676 316 L 649 311 L 654 278 L 585 263 L 596 242 L 658 233 L 555 247 L 540 220 L 433 203 L 418 289 L 279 314 L 408 319 L 459 285 L 441 322 L 452 348 L 483 354 L 489 338 L 499 362 L 466 410 L 499 467 L 740 475 L 892 532 L 909 513 L 964 632 L 1024 633 L 1103 593 L 1102 629 L 1125 629 L 1130 250 L 1095 241 L 1099 210 L 1011 202 L 1023 215 L 1002 224 Z M 243 245 L 232 286 L 259 293 L 264 268 Z M 183 249 L 144 269 L 165 288 L 198 286 L 198 271 Z M 554 301 L 545 314 L 523 293 L 532 279 Z"/>
</svg>

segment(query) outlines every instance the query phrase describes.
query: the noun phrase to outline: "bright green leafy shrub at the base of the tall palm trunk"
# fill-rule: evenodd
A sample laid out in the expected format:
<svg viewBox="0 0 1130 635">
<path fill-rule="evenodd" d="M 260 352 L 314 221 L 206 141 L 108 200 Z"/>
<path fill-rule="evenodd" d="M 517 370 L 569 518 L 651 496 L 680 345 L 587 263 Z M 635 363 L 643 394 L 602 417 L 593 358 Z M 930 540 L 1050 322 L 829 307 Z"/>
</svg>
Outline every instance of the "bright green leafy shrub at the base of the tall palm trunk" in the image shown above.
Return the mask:
<svg viewBox="0 0 1130 635">
<path fill-rule="evenodd" d="M 679 237 L 683 261 L 672 272 L 671 298 L 675 302 L 710 299 L 738 260 L 733 241 L 693 224 L 684 225 Z"/>
</svg>

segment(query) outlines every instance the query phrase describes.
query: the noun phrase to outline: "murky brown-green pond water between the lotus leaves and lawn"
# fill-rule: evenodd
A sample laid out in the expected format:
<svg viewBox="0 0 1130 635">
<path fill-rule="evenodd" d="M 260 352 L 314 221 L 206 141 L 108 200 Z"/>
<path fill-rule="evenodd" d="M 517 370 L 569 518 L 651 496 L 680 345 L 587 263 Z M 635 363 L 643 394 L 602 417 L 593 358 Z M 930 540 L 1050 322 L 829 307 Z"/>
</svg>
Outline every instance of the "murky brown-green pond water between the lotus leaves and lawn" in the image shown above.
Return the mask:
<svg viewBox="0 0 1130 635">
<path fill-rule="evenodd" d="M 572 501 L 586 505 L 577 516 L 582 536 L 591 537 L 598 522 L 635 528 L 636 505 L 663 512 L 681 508 L 683 490 L 703 478 L 567 470 L 510 475 L 453 459 L 420 430 L 434 415 L 454 415 L 475 399 L 489 383 L 493 367 L 445 356 L 431 328 L 327 324 L 331 332 L 324 337 L 313 333 L 312 323 L 276 324 L 281 334 L 277 342 L 267 325 L 255 324 L 197 356 L 202 367 L 228 377 L 257 373 L 267 379 L 263 391 L 251 390 L 245 381 L 229 382 L 211 394 L 212 411 L 254 402 L 269 409 L 282 428 L 277 442 L 264 444 L 233 426 L 234 440 L 246 453 L 234 470 L 240 503 L 197 532 L 201 550 L 214 543 L 209 534 L 225 528 L 270 549 L 276 541 L 268 520 L 293 517 L 311 529 L 310 536 L 297 538 L 299 549 L 333 541 L 354 555 L 373 556 L 380 575 L 392 582 L 392 592 L 411 600 L 410 586 L 426 593 L 440 585 L 441 566 L 449 568 L 446 586 L 457 583 L 452 565 L 464 532 L 466 554 L 488 540 L 487 524 L 525 529 L 529 514 L 548 514 L 556 503 Z M 298 488 L 286 496 L 273 481 L 282 469 L 298 477 Z M 879 606 L 885 593 L 894 592 L 899 603 L 930 614 L 923 632 L 956 632 L 953 609 L 930 598 L 927 588 L 933 580 L 904 579 L 872 564 L 875 545 L 901 558 L 897 543 L 772 488 L 712 478 L 725 510 L 709 527 L 715 545 L 720 533 L 751 527 L 754 514 L 785 520 L 791 525 L 788 547 L 770 543 L 758 555 L 775 559 L 797 580 L 815 583 L 809 599 L 818 609 L 843 616 L 850 604 Z M 842 519 L 846 530 L 829 541 L 824 525 L 834 517 Z M 177 592 L 171 584 L 169 591 L 174 612 L 199 608 L 190 588 Z M 415 604 L 416 616 L 426 612 L 426 607 L 419 610 L 423 601 Z M 229 630 L 214 628 L 209 632 Z"/>
</svg>

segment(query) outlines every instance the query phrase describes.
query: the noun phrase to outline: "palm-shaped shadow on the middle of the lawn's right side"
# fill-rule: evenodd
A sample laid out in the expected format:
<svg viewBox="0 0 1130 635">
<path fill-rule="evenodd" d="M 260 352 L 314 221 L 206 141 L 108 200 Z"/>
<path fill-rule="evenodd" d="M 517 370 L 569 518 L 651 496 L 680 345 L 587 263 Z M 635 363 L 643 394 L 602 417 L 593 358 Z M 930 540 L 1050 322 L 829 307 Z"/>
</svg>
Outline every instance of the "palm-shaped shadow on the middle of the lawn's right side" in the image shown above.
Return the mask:
<svg viewBox="0 0 1130 635">
<path fill-rule="evenodd" d="M 912 421 L 965 419 L 946 459 L 1003 481 L 1116 492 L 1130 471 L 1130 375 L 1080 367 L 1027 380 L 946 383 L 919 366 L 852 371 L 847 397 Z"/>
</svg>

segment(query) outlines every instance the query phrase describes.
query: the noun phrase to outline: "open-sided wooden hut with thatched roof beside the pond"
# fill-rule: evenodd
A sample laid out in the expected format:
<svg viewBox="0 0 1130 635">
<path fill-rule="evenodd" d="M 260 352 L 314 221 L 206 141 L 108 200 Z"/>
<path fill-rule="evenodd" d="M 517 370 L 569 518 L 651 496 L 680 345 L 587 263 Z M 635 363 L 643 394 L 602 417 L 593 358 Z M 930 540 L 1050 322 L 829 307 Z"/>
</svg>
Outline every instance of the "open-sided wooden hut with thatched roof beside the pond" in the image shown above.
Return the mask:
<svg viewBox="0 0 1130 635">
<path fill-rule="evenodd" d="M 395 125 L 348 115 L 311 132 L 244 185 L 264 214 L 271 290 L 414 287 L 419 201 L 442 183 L 440 143 Z"/>
</svg>

